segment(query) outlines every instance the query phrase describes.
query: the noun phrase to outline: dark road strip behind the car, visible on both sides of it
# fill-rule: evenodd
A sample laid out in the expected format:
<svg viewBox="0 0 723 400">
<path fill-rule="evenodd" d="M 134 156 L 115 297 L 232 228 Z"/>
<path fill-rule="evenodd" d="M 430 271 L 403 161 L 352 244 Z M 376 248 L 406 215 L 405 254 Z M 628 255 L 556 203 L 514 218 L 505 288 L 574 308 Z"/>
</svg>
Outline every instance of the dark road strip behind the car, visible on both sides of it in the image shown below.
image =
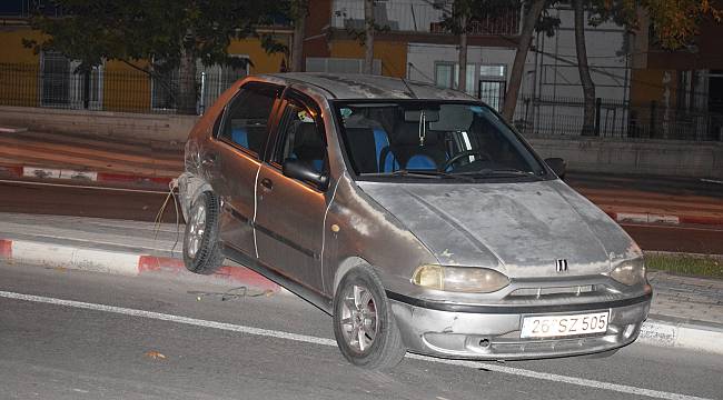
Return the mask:
<svg viewBox="0 0 723 400">
<path fill-rule="evenodd" d="M 0 212 L 153 221 L 168 193 L 157 188 L 0 181 Z M 172 202 L 162 214 L 175 222 Z M 723 254 L 723 227 L 623 224 L 644 250 Z"/>
</svg>

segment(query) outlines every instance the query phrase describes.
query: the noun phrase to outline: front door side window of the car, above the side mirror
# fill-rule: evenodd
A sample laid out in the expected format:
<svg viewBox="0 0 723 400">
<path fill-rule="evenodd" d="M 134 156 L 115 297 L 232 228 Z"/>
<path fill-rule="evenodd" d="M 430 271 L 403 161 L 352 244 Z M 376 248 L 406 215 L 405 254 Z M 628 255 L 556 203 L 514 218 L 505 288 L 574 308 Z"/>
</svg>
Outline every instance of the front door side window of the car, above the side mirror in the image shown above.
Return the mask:
<svg viewBox="0 0 723 400">
<path fill-rule="evenodd" d="M 327 170 L 326 138 L 318 109 L 296 98 L 288 99 L 279 124 L 279 136 L 271 162 L 278 166 L 296 159 L 316 172 Z"/>
</svg>

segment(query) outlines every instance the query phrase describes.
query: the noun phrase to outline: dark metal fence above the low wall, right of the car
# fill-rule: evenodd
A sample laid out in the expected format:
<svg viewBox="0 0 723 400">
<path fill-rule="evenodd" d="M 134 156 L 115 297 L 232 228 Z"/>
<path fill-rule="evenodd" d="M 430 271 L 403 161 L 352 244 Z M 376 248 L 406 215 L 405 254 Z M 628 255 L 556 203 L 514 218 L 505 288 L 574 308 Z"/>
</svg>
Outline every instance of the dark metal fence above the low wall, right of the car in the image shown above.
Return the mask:
<svg viewBox="0 0 723 400">
<path fill-rule="evenodd" d="M 584 100 L 522 98 L 513 122 L 526 136 L 578 137 Z M 601 138 L 723 141 L 723 114 L 665 107 L 658 102 L 631 103 L 597 99 L 593 134 Z"/>
</svg>

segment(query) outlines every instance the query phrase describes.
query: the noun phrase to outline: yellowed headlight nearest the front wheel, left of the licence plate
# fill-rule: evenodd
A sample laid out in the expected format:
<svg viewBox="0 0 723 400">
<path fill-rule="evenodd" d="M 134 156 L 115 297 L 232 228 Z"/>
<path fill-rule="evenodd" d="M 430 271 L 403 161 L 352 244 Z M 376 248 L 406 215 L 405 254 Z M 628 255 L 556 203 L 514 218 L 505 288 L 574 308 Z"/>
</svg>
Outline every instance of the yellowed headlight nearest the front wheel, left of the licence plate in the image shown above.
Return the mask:
<svg viewBox="0 0 723 400">
<path fill-rule="evenodd" d="M 424 264 L 414 271 L 412 282 L 429 289 L 489 293 L 509 284 L 509 278 L 487 268 Z"/>
</svg>

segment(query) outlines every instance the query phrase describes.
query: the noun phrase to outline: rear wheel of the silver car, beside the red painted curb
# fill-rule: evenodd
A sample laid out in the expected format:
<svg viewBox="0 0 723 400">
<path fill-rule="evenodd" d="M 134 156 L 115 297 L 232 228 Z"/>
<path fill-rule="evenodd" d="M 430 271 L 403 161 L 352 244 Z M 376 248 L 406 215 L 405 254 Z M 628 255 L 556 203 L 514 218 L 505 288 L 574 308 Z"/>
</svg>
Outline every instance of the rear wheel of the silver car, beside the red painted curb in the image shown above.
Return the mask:
<svg viewBox="0 0 723 400">
<path fill-rule="evenodd" d="M 211 274 L 224 264 L 218 240 L 218 198 L 202 192 L 191 204 L 184 236 L 184 263 L 195 273 Z"/>
</svg>

